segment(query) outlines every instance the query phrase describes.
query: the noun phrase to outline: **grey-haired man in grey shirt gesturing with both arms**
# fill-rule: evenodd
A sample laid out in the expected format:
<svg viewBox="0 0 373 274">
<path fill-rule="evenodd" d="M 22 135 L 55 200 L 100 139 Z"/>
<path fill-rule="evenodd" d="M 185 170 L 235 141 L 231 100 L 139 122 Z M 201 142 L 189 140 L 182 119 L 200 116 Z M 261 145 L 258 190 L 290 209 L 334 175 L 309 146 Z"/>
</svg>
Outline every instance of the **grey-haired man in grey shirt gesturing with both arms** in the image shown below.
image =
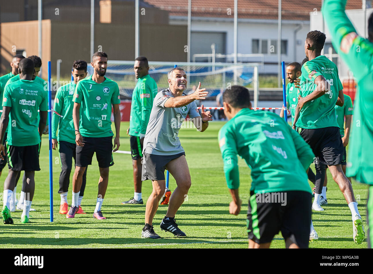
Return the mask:
<svg viewBox="0 0 373 274">
<path fill-rule="evenodd" d="M 202 105 L 201 118 L 195 104 L 195 100 L 203 100 L 208 94 L 206 89 L 200 89 L 201 83 L 194 93 L 185 95 L 183 91 L 188 82 L 185 70 L 182 67 L 173 68 L 167 77 L 169 88 L 160 91 L 154 98 L 142 150 L 144 155 L 142 180 L 151 180 L 153 185 L 153 192 L 146 203 L 145 226 L 141 233 L 143 238 L 160 239 L 160 236 L 154 232 L 153 218 L 166 188 L 165 169 L 175 178 L 177 187 L 170 197 L 160 228 L 175 236 L 186 237 L 175 220 L 176 212 L 184 202 L 191 186 L 185 151 L 181 146 L 178 133 L 187 115 L 200 132 L 204 132 L 209 126 L 209 121 L 212 121 L 210 111 L 204 111 Z"/>
</svg>

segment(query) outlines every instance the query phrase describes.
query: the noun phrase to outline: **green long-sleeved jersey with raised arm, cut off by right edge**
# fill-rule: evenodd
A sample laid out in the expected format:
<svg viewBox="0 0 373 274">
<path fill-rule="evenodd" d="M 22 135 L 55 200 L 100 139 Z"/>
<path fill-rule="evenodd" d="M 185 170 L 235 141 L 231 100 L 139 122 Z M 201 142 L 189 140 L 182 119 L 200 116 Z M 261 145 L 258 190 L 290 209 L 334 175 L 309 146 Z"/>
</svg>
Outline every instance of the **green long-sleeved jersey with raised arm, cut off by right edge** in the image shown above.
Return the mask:
<svg viewBox="0 0 373 274">
<path fill-rule="evenodd" d="M 322 9 L 333 47 L 354 73 L 358 86 L 346 176 L 373 185 L 373 43 L 356 33 L 345 13 L 346 2 L 324 0 Z"/>
</svg>

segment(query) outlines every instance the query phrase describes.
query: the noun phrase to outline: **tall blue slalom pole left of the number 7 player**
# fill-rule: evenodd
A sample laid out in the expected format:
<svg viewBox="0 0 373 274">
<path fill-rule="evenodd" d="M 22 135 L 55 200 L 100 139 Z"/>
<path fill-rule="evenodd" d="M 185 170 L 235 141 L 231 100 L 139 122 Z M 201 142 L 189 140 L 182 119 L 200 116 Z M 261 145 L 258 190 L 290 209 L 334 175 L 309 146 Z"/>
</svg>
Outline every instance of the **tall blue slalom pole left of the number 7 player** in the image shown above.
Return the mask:
<svg viewBox="0 0 373 274">
<path fill-rule="evenodd" d="M 48 61 L 48 132 L 49 132 L 49 201 L 50 221 L 53 222 L 53 169 L 52 169 L 52 65 Z"/>
</svg>

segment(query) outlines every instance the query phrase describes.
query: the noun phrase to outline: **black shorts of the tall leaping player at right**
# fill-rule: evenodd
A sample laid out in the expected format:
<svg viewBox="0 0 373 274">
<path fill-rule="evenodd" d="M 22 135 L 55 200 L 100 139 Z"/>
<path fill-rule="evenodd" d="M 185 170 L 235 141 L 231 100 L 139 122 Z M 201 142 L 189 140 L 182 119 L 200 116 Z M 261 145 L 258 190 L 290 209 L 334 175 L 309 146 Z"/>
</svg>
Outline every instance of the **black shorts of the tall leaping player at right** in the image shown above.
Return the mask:
<svg viewBox="0 0 373 274">
<path fill-rule="evenodd" d="M 321 129 L 302 129 L 298 127 L 298 133 L 312 148 L 316 158 L 328 166 L 342 163 L 343 142 L 339 127 L 330 126 Z"/>
</svg>

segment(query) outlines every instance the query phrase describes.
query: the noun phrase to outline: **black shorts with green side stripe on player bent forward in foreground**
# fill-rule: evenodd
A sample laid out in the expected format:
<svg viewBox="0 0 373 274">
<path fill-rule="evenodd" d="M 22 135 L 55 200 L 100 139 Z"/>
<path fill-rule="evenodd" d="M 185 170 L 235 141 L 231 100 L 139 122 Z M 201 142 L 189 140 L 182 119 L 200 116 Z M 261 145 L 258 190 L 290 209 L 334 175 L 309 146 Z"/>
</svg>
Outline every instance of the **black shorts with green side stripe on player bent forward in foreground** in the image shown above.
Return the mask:
<svg viewBox="0 0 373 274">
<path fill-rule="evenodd" d="M 259 244 L 269 243 L 281 230 L 285 240 L 291 237 L 300 248 L 308 248 L 311 193 L 272 193 L 250 193 L 247 211 L 248 238 Z M 266 195 L 271 195 L 271 202 L 268 202 Z"/>
</svg>

